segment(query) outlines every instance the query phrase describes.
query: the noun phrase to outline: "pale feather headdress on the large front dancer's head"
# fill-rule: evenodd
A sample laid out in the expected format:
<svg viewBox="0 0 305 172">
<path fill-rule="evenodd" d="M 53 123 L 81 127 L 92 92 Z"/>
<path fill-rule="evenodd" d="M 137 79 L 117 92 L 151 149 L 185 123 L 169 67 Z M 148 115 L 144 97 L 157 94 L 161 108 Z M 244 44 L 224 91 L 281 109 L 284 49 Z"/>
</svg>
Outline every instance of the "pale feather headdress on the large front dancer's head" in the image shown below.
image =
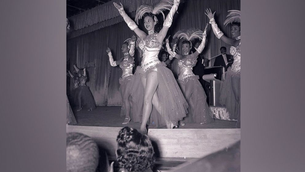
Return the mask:
<svg viewBox="0 0 305 172">
<path fill-rule="evenodd" d="M 139 24 L 139 20 L 144 16 L 145 13 L 152 13 L 154 14 L 154 20 L 157 22 L 156 15 L 162 14 L 163 19 L 165 18 L 165 15 L 163 11 L 165 10 L 171 10 L 172 6 L 174 5 L 174 0 L 161 0 L 158 4 L 156 4 L 155 7 L 149 6 L 149 5 L 141 5 L 136 12 L 136 23 Z"/>
</svg>

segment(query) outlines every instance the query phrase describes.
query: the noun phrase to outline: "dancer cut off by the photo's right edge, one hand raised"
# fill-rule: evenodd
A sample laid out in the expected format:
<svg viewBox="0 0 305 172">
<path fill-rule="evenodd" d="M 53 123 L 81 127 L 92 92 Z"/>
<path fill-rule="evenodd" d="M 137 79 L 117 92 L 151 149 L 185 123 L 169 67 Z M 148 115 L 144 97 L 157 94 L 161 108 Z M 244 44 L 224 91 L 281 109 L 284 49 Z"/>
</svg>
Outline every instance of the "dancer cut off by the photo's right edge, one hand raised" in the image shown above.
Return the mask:
<svg viewBox="0 0 305 172">
<path fill-rule="evenodd" d="M 216 12 L 216 11 L 215 11 Z M 230 113 L 231 119 L 237 119 L 236 127 L 240 128 L 240 10 L 229 10 L 230 12 L 224 25 L 231 23 L 231 38 L 224 35 L 218 28 L 214 13 L 206 9 L 206 15 L 210 19 L 213 32 L 218 39 L 230 45 L 230 54 L 233 55 L 233 64 L 224 73 L 223 83 L 220 88 L 220 103 L 225 105 Z"/>
</svg>

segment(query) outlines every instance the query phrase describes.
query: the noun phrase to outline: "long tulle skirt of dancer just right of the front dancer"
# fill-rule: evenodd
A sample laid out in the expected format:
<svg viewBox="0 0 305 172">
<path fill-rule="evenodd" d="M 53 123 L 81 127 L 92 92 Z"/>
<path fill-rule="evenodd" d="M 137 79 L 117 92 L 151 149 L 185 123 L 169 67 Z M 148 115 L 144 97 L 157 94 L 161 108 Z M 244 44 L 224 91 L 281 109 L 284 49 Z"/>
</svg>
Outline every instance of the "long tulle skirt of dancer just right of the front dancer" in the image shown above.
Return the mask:
<svg viewBox="0 0 305 172">
<path fill-rule="evenodd" d="M 178 80 L 178 84 L 182 90 L 185 92 L 185 87 L 190 80 L 194 81 L 193 92 L 190 97 L 188 114 L 184 118 L 185 123 L 203 123 L 208 124 L 214 122 L 214 118 L 212 117 L 211 109 L 207 103 L 207 96 L 204 93 L 204 89 L 199 82 L 199 76 L 190 76 L 184 80 Z"/>
</svg>

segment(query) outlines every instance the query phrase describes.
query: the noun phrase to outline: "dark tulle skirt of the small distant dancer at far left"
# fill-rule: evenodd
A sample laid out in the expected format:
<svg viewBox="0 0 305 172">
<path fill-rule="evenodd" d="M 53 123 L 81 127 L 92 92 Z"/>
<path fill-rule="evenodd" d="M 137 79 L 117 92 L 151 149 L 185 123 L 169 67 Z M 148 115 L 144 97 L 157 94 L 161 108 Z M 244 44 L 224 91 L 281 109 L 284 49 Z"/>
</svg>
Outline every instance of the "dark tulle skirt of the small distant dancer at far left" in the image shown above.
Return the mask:
<svg viewBox="0 0 305 172">
<path fill-rule="evenodd" d="M 88 86 L 79 87 L 79 96 L 81 96 L 81 105 L 86 109 L 96 109 L 95 101 Z"/>
</svg>

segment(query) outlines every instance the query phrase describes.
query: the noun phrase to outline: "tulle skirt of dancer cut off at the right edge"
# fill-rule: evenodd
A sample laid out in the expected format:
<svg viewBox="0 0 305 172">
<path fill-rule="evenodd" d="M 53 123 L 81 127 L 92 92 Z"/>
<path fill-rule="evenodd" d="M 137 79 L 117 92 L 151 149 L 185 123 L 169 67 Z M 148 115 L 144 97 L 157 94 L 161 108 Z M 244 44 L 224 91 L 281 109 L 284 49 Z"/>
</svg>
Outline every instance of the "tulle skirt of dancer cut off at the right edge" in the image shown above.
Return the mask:
<svg viewBox="0 0 305 172">
<path fill-rule="evenodd" d="M 230 119 L 238 120 L 237 123 L 240 124 L 240 72 L 234 72 L 229 69 L 224 73 L 222 81 L 220 87 L 220 104 L 226 106 L 230 113 Z M 235 92 L 238 95 L 235 95 L 233 90 L 236 90 Z"/>
</svg>

